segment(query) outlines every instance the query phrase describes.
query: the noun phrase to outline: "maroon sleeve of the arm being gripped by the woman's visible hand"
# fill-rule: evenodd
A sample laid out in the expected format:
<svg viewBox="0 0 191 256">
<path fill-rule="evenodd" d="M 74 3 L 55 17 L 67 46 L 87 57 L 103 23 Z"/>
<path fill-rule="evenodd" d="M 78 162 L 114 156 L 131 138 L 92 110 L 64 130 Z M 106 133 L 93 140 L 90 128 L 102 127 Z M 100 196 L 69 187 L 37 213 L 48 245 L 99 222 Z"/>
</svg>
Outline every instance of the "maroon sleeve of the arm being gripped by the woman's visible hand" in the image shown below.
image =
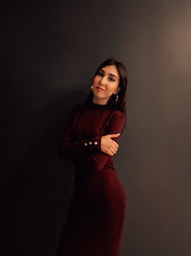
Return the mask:
<svg viewBox="0 0 191 256">
<path fill-rule="evenodd" d="M 114 134 L 114 133 L 121 133 L 123 127 L 125 124 L 125 114 L 121 111 L 117 110 L 114 112 L 113 118 L 111 119 L 111 122 L 106 130 L 106 134 Z M 112 138 L 116 142 L 118 142 L 119 137 Z M 98 171 L 104 168 L 109 158 L 112 158 L 113 156 L 110 154 L 107 154 L 103 151 L 97 151 L 92 152 L 84 155 L 83 158 L 79 159 L 77 162 L 77 166 L 81 169 L 89 169 L 92 171 Z"/>
</svg>

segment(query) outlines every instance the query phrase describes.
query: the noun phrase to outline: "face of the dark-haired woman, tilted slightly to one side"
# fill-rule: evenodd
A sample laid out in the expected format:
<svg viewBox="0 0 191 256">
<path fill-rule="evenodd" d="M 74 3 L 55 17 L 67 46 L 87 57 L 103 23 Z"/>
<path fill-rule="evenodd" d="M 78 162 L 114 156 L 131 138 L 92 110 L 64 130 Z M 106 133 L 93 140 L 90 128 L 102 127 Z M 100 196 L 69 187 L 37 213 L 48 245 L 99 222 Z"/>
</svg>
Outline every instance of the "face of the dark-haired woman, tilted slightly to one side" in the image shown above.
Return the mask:
<svg viewBox="0 0 191 256">
<path fill-rule="evenodd" d="M 112 94 L 119 91 L 119 74 L 116 65 L 104 66 L 99 69 L 93 81 L 93 102 L 106 105 Z"/>
</svg>

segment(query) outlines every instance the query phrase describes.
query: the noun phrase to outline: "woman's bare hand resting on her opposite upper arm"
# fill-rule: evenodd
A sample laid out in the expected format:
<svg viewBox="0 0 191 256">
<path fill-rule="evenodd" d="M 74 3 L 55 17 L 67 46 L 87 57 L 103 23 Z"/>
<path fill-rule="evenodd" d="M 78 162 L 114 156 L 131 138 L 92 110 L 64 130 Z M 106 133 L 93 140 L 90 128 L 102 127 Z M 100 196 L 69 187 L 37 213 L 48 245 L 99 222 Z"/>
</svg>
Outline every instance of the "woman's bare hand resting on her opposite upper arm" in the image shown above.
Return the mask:
<svg viewBox="0 0 191 256">
<path fill-rule="evenodd" d="M 118 144 L 111 138 L 116 138 L 120 135 L 120 133 L 116 134 L 108 134 L 101 137 L 100 148 L 101 151 L 108 153 L 110 155 L 114 155 L 118 150 Z"/>
</svg>

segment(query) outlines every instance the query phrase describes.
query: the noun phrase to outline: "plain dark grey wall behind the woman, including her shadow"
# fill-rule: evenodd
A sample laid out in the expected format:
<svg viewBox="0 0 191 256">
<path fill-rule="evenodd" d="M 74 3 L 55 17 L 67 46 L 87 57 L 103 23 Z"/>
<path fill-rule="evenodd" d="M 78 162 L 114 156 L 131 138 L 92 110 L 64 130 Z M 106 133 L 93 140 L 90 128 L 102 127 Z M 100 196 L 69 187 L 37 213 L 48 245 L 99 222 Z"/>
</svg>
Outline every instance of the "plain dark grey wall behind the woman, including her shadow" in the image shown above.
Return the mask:
<svg viewBox="0 0 191 256">
<path fill-rule="evenodd" d="M 109 57 L 129 72 L 120 255 L 191 255 L 191 2 L 8 1 L 1 12 L 1 255 L 56 255 L 74 183 L 57 145 Z"/>
</svg>

